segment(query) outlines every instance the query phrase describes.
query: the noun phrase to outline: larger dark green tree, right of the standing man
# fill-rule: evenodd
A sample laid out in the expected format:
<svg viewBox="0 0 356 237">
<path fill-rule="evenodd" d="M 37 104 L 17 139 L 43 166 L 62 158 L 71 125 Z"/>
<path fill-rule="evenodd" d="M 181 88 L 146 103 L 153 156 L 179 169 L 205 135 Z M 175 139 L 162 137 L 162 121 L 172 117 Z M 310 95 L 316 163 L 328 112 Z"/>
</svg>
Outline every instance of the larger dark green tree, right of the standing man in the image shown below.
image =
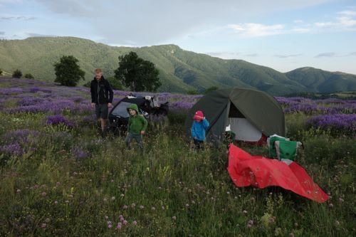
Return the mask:
<svg viewBox="0 0 356 237">
<path fill-rule="evenodd" d="M 159 70 L 155 65 L 130 52 L 119 56 L 119 67 L 115 70 L 115 78 L 132 91 L 156 92 L 162 84 L 159 82 Z"/>
</svg>

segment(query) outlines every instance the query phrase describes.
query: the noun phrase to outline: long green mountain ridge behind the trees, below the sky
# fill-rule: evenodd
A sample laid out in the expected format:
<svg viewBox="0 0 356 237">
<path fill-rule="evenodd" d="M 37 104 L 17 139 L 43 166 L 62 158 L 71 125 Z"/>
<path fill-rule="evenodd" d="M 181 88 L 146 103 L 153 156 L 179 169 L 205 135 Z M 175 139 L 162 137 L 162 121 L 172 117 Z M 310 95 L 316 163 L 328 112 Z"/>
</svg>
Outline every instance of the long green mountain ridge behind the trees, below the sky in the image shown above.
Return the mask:
<svg viewBox="0 0 356 237">
<path fill-rule="evenodd" d="M 103 68 L 106 76 L 114 74 L 118 67 L 118 57 L 130 51 L 155 63 L 159 69 L 162 87 L 159 91 L 184 93 L 187 90 L 204 91 L 206 88 L 256 88 L 272 95 L 303 93 L 305 91 L 323 93 L 333 90 L 356 88 L 354 75 L 344 76 L 334 73 L 331 78 L 313 78 L 315 86 L 310 90 L 308 82 L 292 72 L 280 73 L 244 60 L 224 60 L 200 53 L 184 51 L 174 45 L 150 46 L 142 48 L 107 46 L 83 38 L 36 37 L 24 40 L 0 41 L 0 68 L 12 72 L 19 68 L 24 74 L 31 73 L 38 80 L 55 79 L 53 63 L 61 56 L 73 55 L 78 58 L 80 68 L 85 71 L 85 81 L 92 80 L 93 69 Z M 323 70 L 320 70 L 324 72 Z M 332 73 L 333 74 L 333 73 Z M 339 83 L 342 80 L 343 83 Z M 354 89 L 355 90 L 355 89 Z"/>
</svg>

